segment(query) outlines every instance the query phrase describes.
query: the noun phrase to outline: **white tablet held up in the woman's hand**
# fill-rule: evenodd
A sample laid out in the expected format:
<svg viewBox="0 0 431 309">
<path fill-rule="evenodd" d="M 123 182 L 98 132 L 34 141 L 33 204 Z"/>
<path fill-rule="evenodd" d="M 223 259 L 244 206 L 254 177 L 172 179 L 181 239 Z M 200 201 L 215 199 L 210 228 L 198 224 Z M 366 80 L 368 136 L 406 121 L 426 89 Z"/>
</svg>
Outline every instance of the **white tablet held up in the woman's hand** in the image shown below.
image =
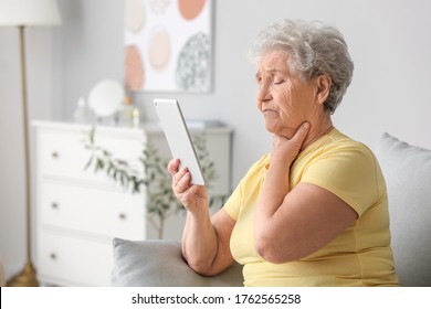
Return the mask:
<svg viewBox="0 0 431 309">
<path fill-rule="evenodd" d="M 180 167 L 188 168 L 191 183 L 204 185 L 202 170 L 179 103 L 176 99 L 156 98 L 154 105 L 172 157 L 180 159 Z"/>
</svg>

